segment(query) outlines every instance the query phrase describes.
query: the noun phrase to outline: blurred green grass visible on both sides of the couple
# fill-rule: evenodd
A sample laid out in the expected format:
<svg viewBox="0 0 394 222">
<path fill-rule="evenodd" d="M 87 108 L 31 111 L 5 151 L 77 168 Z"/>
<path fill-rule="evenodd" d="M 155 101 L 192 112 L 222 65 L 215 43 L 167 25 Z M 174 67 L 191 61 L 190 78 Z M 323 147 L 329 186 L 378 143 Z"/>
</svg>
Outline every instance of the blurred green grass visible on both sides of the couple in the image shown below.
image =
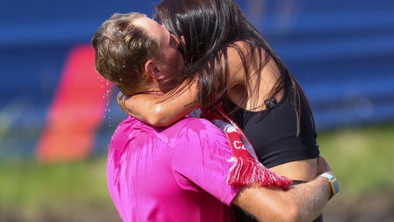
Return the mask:
<svg viewBox="0 0 394 222">
<path fill-rule="evenodd" d="M 338 177 L 341 195 L 394 188 L 394 125 L 320 132 L 318 143 Z M 105 170 L 106 157 L 50 165 L 0 163 L 0 214 L 2 209 L 24 214 L 89 206 L 92 212 L 109 209 L 115 215 Z"/>
</svg>

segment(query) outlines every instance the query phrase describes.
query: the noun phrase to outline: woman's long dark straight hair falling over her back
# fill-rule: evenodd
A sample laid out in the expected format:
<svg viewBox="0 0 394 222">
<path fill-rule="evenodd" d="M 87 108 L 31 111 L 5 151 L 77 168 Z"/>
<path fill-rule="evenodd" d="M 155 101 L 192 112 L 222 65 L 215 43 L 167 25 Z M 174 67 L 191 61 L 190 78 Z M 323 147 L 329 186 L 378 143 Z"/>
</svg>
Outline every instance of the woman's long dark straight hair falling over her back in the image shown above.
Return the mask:
<svg viewBox="0 0 394 222">
<path fill-rule="evenodd" d="M 198 75 L 196 100 L 200 102 L 203 110 L 212 108 L 214 102 L 219 99 L 226 100 L 227 50 L 231 47 L 240 55 L 245 80 L 257 75 L 257 85 L 251 86 L 248 81 L 245 83 L 246 87 L 251 89 L 249 98 L 258 98 L 256 90 L 260 85 L 262 69 L 273 59 L 279 68 L 281 78 L 274 84 L 270 95 L 277 95 L 283 88 L 291 95 L 297 114 L 298 133 L 301 99 L 305 101 L 312 115 L 299 83 L 261 33 L 250 24 L 234 0 L 163 0 L 156 7 L 155 18 L 180 40 L 188 70 L 179 78 L 180 81 L 190 81 Z M 182 42 L 181 36 L 185 43 Z M 246 50 L 234 44 L 238 41 L 246 44 Z M 255 107 L 263 105 L 257 104 Z"/>
</svg>

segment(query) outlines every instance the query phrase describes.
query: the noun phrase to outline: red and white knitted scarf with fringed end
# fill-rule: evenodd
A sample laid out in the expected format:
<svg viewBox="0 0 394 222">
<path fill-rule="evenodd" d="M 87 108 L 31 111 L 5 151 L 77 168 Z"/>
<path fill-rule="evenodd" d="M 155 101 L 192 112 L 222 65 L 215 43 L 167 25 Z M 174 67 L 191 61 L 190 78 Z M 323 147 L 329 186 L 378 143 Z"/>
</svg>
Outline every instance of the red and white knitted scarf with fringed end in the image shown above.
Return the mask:
<svg viewBox="0 0 394 222">
<path fill-rule="evenodd" d="M 227 160 L 234 162 L 230 168 L 226 183 L 232 186 L 260 184 L 263 187 L 288 188 L 292 181 L 275 174 L 264 167 L 257 158 L 254 149 L 240 127 L 224 112 L 219 103 L 215 104 L 214 112 L 203 114 L 226 135 L 231 147 L 232 157 Z"/>
</svg>

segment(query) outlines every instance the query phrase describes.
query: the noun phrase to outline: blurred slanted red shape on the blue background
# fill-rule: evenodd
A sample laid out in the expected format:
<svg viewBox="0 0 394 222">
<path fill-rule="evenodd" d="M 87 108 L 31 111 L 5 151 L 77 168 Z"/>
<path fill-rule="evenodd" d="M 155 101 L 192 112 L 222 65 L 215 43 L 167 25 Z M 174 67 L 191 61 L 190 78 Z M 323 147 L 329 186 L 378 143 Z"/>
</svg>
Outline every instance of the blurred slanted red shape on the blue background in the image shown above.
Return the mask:
<svg viewBox="0 0 394 222">
<path fill-rule="evenodd" d="M 77 45 L 72 48 L 38 139 L 38 160 L 45 163 L 71 161 L 91 154 L 95 133 L 104 120 L 109 89 L 113 87 L 98 77 L 92 47 Z"/>
</svg>

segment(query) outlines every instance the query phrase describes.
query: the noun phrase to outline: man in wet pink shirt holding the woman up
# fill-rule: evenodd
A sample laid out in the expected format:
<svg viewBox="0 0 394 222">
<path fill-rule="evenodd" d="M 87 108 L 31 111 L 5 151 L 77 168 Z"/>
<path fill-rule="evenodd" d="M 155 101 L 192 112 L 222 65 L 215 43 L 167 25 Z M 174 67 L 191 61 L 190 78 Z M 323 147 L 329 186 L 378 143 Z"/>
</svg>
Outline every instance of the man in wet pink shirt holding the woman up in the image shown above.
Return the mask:
<svg viewBox="0 0 394 222">
<path fill-rule="evenodd" d="M 160 96 L 183 69 L 176 38 L 141 13 L 112 15 L 92 46 L 97 71 L 125 95 Z M 153 127 L 129 116 L 111 140 L 108 190 L 123 221 L 231 221 L 231 204 L 259 220 L 311 221 L 331 196 L 323 177 L 286 191 L 229 186 L 231 157 L 225 134 L 207 120 Z M 319 173 L 330 171 L 320 158 Z"/>
</svg>

